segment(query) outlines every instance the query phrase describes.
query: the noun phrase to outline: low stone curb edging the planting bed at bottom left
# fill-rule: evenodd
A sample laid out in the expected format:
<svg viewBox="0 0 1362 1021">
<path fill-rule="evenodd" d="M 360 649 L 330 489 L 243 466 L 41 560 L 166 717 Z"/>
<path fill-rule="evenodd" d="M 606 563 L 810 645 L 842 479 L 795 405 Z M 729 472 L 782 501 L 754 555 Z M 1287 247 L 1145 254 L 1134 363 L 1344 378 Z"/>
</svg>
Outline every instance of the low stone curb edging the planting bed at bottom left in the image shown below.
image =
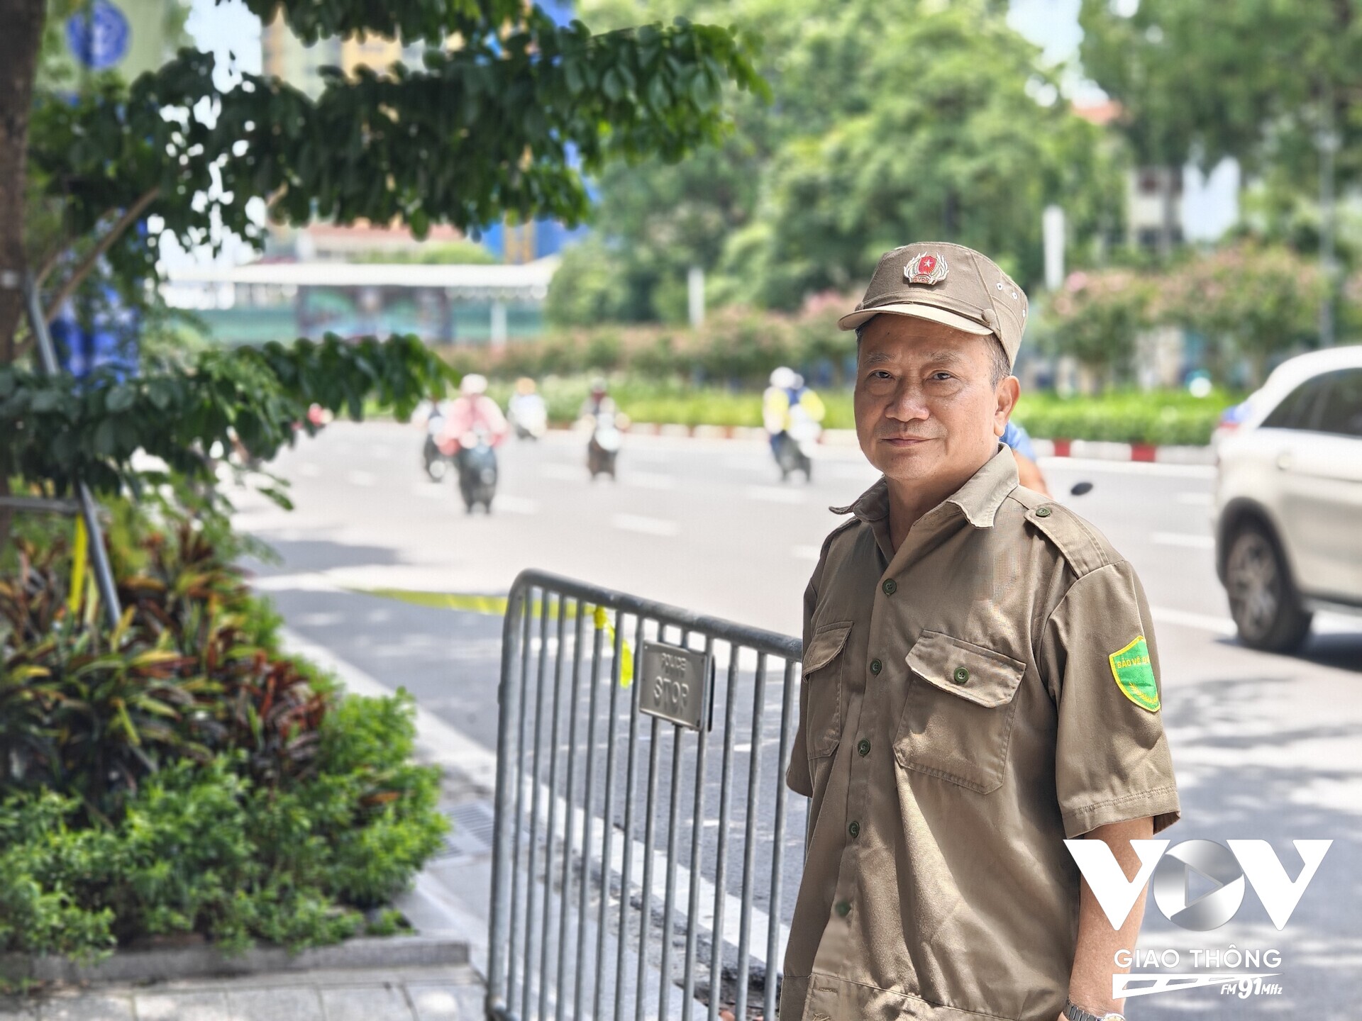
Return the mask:
<svg viewBox="0 0 1362 1021">
<path fill-rule="evenodd" d="M 227 957 L 210 945 L 158 950 L 116 950 L 98 964 L 78 964 L 68 957 L 0 957 L 0 976 L 10 980 L 143 983 L 206 979 L 222 975 L 264 975 L 301 971 L 350 971 L 358 968 L 419 968 L 469 962 L 463 939 L 430 937 L 360 937 L 334 946 L 290 953 L 282 946 L 255 947 Z"/>
</svg>

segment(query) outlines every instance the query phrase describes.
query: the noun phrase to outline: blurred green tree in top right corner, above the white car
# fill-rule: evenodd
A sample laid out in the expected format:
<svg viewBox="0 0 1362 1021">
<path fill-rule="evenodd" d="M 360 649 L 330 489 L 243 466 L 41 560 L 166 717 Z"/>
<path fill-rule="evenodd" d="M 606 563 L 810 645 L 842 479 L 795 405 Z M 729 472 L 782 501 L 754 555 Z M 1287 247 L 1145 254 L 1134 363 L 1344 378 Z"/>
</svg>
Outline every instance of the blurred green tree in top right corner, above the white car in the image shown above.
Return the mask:
<svg viewBox="0 0 1362 1021">
<path fill-rule="evenodd" d="M 1362 182 L 1355 0 L 1141 0 L 1122 12 L 1129 7 L 1083 0 L 1080 56 L 1121 103 L 1118 127 L 1137 159 L 1179 167 L 1233 157 L 1272 191 L 1318 200 L 1317 242 L 1332 276 L 1332 195 Z M 1325 332 L 1331 306 L 1321 309 Z"/>
</svg>

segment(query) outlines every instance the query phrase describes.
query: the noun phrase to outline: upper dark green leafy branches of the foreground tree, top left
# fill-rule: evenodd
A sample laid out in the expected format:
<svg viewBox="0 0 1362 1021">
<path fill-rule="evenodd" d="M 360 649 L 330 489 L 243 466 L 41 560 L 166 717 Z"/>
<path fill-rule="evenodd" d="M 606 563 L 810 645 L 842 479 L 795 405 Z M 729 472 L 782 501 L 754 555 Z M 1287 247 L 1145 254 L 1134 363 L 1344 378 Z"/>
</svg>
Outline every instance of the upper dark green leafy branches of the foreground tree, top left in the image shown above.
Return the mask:
<svg viewBox="0 0 1362 1021">
<path fill-rule="evenodd" d="M 279 4 L 248 7 L 268 18 Z M 305 41 L 425 39 L 424 65 L 332 72 L 311 99 L 256 75 L 221 90 L 212 57 L 181 50 L 131 87 L 104 79 L 69 103 L 33 90 L 42 8 L 0 3 L 12 79 L 0 95 L 0 272 L 26 264 L 27 154 L 41 197 L 65 208 L 54 248 L 29 253 L 56 280 L 49 314 L 101 260 L 124 279 L 153 279 L 159 237 L 132 230 L 151 218 L 187 246 L 212 241 L 214 222 L 260 241 L 252 199 L 282 222 L 402 221 L 418 237 L 432 223 L 477 229 L 504 214 L 576 222 L 588 200 L 572 154 L 586 172 L 612 158 L 678 159 L 723 129 L 725 82 L 761 87 L 748 41 L 726 29 L 678 20 L 594 34 L 520 0 L 300 0 L 282 14 Z M 458 45 L 443 48 L 448 38 Z M 0 361 L 20 353 L 18 312 L 7 290 Z"/>
</svg>

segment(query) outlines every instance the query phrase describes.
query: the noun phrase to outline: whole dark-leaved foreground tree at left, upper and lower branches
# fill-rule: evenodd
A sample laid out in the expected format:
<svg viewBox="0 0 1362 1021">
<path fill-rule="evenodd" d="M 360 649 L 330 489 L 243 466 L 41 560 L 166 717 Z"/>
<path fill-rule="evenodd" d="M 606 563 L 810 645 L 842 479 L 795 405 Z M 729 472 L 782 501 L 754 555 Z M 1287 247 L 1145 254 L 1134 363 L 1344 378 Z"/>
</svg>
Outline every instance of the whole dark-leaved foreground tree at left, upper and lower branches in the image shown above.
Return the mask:
<svg viewBox="0 0 1362 1021">
<path fill-rule="evenodd" d="M 433 223 L 477 229 L 503 215 L 576 222 L 588 208 L 583 172 L 612 159 L 680 159 L 727 127 L 726 83 L 763 88 L 749 39 L 685 20 L 592 33 L 580 22 L 560 27 L 523 0 L 248 7 L 263 18 L 282 12 L 304 41 L 424 39 L 422 67 L 361 69 L 353 79 L 332 69 L 313 99 L 249 74 L 222 88 L 211 56 L 181 50 L 131 86 L 104 76 L 71 101 L 34 84 L 45 0 L 0 0 L 0 368 L 31 349 L 19 331 L 18 290 L 30 270 L 50 319 L 97 271 L 131 298 L 144 294 L 162 237 L 193 248 L 232 231 L 259 244 L 252 201 L 264 200 L 279 222 L 398 221 L 418 237 Z M 59 222 L 34 234 L 37 250 L 26 248 L 25 214 L 52 208 Z M 355 412 L 366 395 L 391 400 L 430 377 L 429 363 L 400 342 L 324 350 L 351 381 L 334 396 Z M 16 470 L 57 487 L 69 485 L 72 466 L 121 478 L 139 438 L 166 447 L 155 429 L 139 430 L 127 414 L 133 406 L 153 418 L 185 414 L 174 444 L 189 455 L 202 457 L 229 426 L 238 437 L 253 432 L 268 452 L 291 430 L 306 392 L 306 373 L 289 368 L 297 358 L 311 363 L 301 349 L 270 355 L 279 369 L 272 380 L 245 355 L 223 362 L 260 376 L 255 403 L 251 387 L 214 389 L 203 359 L 146 385 L 105 378 L 80 392 L 69 380 L 53 391 L 10 373 L 0 417 L 29 432 L 27 442 L 0 447 L 0 496 Z M 33 442 L 38 436 L 52 444 Z M 0 546 L 7 527 L 0 509 Z"/>
</svg>

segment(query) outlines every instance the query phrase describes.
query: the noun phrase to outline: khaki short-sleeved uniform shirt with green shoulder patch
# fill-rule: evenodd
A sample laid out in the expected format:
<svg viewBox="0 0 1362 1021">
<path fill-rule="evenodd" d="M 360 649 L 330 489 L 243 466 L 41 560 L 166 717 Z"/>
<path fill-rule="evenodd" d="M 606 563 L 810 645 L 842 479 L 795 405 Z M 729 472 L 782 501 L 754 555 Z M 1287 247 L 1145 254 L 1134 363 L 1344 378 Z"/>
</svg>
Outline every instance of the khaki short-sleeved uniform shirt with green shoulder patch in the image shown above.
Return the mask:
<svg viewBox="0 0 1362 1021">
<path fill-rule="evenodd" d="M 1181 814 L 1140 581 L 1005 447 L 896 553 L 883 478 L 834 510 L 855 517 L 804 600 L 787 781 L 810 834 L 780 1017 L 1054 1021 L 1064 839 Z"/>
</svg>

